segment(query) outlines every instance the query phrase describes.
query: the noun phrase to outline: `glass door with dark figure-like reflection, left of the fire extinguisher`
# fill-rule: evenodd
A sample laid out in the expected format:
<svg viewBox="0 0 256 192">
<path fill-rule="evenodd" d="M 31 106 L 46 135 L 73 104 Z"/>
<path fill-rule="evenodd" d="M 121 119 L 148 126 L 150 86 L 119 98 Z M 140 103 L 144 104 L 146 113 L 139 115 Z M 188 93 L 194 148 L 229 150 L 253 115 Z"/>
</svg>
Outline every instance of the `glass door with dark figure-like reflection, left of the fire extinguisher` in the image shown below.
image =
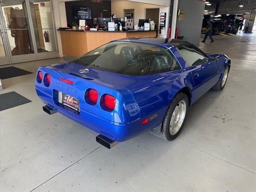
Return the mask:
<svg viewBox="0 0 256 192">
<path fill-rule="evenodd" d="M 36 60 L 26 1 L 2 0 L 0 8 L 11 62 L 18 63 Z"/>
</svg>

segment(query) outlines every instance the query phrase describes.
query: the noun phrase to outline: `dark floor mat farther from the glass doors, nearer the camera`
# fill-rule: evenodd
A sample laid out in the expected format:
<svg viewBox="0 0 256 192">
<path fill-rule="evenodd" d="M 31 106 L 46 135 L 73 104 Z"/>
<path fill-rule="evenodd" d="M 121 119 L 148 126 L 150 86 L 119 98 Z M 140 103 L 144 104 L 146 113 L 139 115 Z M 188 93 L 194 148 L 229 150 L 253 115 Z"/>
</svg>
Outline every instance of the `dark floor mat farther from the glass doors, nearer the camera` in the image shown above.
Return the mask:
<svg viewBox="0 0 256 192">
<path fill-rule="evenodd" d="M 0 94 L 0 111 L 23 105 L 29 102 L 31 101 L 14 91 Z"/>
</svg>

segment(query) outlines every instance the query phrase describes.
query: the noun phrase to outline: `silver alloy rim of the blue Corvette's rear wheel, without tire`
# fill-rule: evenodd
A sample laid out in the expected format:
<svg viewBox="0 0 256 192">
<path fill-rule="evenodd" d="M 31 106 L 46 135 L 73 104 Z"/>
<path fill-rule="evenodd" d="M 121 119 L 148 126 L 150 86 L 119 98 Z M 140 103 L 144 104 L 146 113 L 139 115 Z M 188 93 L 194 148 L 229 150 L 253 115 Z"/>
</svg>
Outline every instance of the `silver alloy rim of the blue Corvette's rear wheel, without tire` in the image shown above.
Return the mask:
<svg viewBox="0 0 256 192">
<path fill-rule="evenodd" d="M 186 108 L 186 102 L 184 100 L 181 100 L 172 112 L 172 118 L 170 121 L 171 135 L 175 135 L 180 130 L 182 123 L 185 119 Z"/>
</svg>

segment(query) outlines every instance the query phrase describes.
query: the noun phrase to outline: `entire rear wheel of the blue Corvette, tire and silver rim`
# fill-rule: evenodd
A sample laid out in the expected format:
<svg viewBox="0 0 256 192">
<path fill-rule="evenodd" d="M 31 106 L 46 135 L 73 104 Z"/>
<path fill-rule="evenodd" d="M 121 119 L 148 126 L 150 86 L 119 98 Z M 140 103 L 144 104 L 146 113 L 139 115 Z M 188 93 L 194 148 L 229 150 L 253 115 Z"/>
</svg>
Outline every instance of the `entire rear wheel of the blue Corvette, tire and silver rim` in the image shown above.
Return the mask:
<svg viewBox="0 0 256 192">
<path fill-rule="evenodd" d="M 164 116 L 161 137 L 165 140 L 174 140 L 182 130 L 188 111 L 188 96 L 178 93 L 172 100 Z"/>
</svg>

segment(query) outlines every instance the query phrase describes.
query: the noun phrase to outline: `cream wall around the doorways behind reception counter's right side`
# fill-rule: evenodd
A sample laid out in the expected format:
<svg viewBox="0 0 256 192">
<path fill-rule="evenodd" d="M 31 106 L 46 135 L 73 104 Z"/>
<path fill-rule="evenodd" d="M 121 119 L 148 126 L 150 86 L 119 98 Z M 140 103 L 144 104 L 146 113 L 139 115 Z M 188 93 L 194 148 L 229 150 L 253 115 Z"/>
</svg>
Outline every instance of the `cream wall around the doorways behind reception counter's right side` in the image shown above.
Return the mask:
<svg viewBox="0 0 256 192">
<path fill-rule="evenodd" d="M 154 1 L 154 0 L 147 0 L 140 2 L 165 2 L 165 1 Z M 158 31 L 158 37 L 166 37 L 167 28 L 169 23 L 169 14 L 170 14 L 170 4 L 168 7 L 159 6 L 159 5 L 152 5 L 152 4 L 145 4 L 135 2 L 135 0 L 111 0 L 111 12 L 112 14 L 116 14 L 116 17 L 124 17 L 124 9 L 134 9 L 134 25 L 138 24 L 139 19 L 144 19 L 146 15 L 146 8 L 159 8 L 159 20 L 160 20 L 160 13 L 166 12 L 166 27 L 165 27 L 165 35 L 161 35 Z M 168 0 L 167 0 L 168 2 Z M 160 23 L 160 21 L 159 21 Z M 159 30 L 158 26 L 158 30 Z"/>
</svg>

